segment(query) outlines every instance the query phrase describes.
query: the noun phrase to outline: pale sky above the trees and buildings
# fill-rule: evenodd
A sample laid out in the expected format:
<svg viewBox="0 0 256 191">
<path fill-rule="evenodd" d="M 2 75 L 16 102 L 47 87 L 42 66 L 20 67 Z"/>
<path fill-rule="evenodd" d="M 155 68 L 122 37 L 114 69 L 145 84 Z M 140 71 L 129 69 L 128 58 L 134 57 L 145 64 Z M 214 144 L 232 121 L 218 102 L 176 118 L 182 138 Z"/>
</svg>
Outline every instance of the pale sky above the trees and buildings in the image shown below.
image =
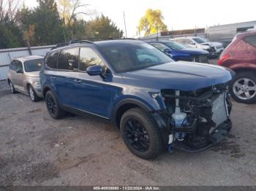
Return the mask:
<svg viewBox="0 0 256 191">
<path fill-rule="evenodd" d="M 206 28 L 214 25 L 256 20 L 255 0 L 81 0 L 94 15 L 110 17 L 118 28 L 124 30 L 124 13 L 127 37 L 138 34 L 137 26 L 146 9 L 160 9 L 164 23 L 171 31 L 185 28 Z M 36 0 L 25 0 L 29 7 L 37 6 Z M 141 33 L 143 36 L 143 33 Z"/>
</svg>

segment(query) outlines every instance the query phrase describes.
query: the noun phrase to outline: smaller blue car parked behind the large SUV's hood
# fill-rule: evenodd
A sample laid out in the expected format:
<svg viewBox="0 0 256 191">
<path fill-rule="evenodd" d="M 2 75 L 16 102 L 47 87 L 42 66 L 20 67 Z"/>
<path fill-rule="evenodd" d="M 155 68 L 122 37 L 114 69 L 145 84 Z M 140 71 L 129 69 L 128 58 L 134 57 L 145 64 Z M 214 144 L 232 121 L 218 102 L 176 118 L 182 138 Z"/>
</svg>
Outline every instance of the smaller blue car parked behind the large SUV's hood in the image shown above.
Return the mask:
<svg viewBox="0 0 256 191">
<path fill-rule="evenodd" d="M 149 42 L 149 44 L 165 52 L 165 54 L 173 58 L 174 61 L 208 63 L 209 52 L 206 50 L 188 48 L 172 41 Z"/>
</svg>

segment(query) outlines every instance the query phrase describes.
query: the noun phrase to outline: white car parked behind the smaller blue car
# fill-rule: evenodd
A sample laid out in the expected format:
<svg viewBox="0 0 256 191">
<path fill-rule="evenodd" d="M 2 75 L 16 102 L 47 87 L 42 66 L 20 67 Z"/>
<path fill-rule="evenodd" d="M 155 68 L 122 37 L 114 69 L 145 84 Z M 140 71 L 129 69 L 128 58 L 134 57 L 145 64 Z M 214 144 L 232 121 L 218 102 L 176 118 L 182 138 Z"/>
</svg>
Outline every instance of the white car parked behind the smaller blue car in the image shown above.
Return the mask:
<svg viewBox="0 0 256 191">
<path fill-rule="evenodd" d="M 188 45 L 189 47 L 207 50 L 208 52 L 210 52 L 211 57 L 216 57 L 220 55 L 221 52 L 224 50 L 222 43 L 209 42 L 208 39 L 204 39 L 199 36 L 178 37 L 170 40 Z"/>
</svg>

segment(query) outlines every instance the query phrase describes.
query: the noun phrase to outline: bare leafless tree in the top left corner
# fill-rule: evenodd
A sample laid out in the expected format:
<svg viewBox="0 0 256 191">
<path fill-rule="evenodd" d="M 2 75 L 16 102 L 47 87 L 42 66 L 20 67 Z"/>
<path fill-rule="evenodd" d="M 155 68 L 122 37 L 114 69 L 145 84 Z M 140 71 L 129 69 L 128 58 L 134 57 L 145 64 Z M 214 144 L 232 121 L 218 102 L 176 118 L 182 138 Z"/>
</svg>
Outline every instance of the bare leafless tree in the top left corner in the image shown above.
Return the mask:
<svg viewBox="0 0 256 191">
<path fill-rule="evenodd" d="M 0 0 L 0 21 L 6 18 L 14 20 L 19 5 L 20 1 L 18 0 Z"/>
</svg>

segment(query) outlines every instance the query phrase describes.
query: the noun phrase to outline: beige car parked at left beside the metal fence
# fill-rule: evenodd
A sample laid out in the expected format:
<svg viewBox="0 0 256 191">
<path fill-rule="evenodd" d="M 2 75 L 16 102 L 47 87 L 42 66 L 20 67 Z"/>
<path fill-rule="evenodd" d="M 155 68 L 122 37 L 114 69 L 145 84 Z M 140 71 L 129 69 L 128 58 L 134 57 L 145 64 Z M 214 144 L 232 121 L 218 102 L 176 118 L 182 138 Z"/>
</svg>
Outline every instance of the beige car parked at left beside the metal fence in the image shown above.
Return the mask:
<svg viewBox="0 0 256 191">
<path fill-rule="evenodd" d="M 39 82 L 39 70 L 42 68 L 42 61 L 43 57 L 39 55 L 12 60 L 7 74 L 7 82 L 12 93 L 20 92 L 29 95 L 31 101 L 39 101 L 42 98 Z"/>
</svg>

